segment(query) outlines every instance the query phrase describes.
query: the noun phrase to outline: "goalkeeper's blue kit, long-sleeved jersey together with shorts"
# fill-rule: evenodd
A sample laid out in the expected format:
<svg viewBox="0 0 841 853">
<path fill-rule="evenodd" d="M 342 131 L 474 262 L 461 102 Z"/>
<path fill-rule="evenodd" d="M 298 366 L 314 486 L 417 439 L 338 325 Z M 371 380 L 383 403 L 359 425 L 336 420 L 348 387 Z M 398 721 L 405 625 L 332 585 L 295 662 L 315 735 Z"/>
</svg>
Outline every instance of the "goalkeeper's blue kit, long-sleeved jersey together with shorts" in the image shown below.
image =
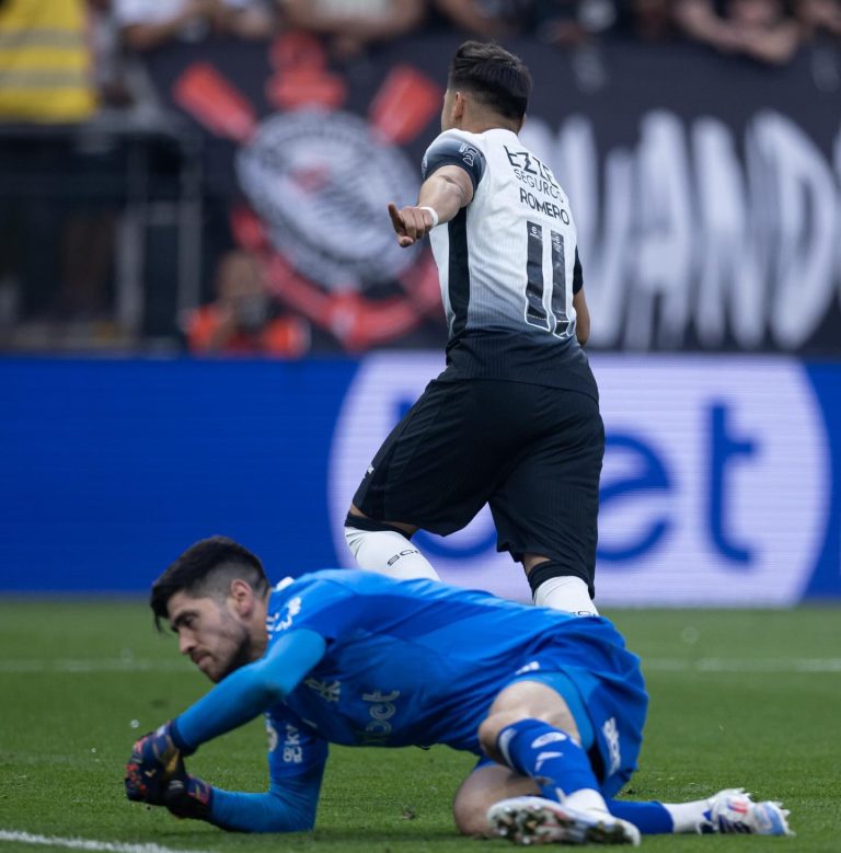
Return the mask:
<svg viewBox="0 0 841 853">
<path fill-rule="evenodd" d="M 638 658 L 607 619 L 430 580 L 325 569 L 279 584 L 267 627 L 263 658 L 175 721 L 184 744 L 195 748 L 266 714 L 269 794 L 217 792 L 214 819 L 221 826 L 276 829 L 279 814 L 281 822 L 311 820 L 329 744 L 446 744 L 481 756 L 479 725 L 496 695 L 541 672 L 563 672 L 580 692 L 606 795 L 636 766 L 647 696 Z M 286 683 L 280 701 L 262 704 L 253 690 L 261 667 Z"/>
</svg>

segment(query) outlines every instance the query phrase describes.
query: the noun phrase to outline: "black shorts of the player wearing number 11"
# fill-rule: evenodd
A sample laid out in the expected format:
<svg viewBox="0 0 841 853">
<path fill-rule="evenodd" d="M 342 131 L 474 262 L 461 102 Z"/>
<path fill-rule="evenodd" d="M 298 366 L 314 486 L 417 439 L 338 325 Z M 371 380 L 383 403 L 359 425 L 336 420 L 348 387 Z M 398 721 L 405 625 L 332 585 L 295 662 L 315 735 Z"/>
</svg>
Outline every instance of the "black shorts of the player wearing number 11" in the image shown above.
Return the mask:
<svg viewBox="0 0 841 853">
<path fill-rule="evenodd" d="M 592 583 L 604 427 L 588 394 L 526 382 L 431 381 L 371 462 L 354 504 L 447 535 L 489 504 L 497 550 Z"/>
</svg>

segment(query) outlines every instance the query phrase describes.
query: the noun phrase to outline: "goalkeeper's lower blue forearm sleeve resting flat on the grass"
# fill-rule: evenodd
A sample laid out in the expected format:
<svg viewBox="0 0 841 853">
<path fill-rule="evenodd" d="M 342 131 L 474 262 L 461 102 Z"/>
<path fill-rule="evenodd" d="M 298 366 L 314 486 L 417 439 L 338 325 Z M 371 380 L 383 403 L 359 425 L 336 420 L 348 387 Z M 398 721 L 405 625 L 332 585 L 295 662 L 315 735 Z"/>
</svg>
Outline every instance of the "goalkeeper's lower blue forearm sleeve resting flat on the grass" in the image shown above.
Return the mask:
<svg viewBox="0 0 841 853">
<path fill-rule="evenodd" d="M 321 776 L 272 785 L 267 794 L 241 794 L 214 788 L 210 822 L 240 832 L 304 832 L 315 823 Z"/>
</svg>

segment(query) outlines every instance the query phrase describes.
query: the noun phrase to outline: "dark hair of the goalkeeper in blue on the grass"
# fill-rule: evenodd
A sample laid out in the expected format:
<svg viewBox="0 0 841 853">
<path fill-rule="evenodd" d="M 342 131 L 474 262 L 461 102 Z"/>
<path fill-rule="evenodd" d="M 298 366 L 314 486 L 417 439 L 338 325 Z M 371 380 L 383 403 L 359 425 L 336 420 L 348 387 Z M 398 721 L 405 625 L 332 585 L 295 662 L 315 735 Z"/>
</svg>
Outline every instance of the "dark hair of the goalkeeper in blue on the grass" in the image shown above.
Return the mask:
<svg viewBox="0 0 841 853">
<path fill-rule="evenodd" d="M 224 601 L 232 580 L 245 580 L 263 596 L 269 583 L 260 557 L 228 537 L 210 537 L 191 545 L 152 584 L 149 606 L 154 613 L 154 624 L 168 619 L 166 608 L 176 592 L 196 598 L 214 598 Z"/>
</svg>

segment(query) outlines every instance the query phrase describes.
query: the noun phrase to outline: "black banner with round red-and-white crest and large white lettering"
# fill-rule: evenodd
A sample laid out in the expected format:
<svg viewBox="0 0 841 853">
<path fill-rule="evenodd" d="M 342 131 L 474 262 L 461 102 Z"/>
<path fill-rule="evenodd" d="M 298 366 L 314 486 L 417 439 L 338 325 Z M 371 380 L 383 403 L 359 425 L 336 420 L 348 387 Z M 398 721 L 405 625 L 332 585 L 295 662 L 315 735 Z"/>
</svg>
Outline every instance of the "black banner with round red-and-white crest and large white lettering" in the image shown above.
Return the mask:
<svg viewBox="0 0 841 853">
<path fill-rule="evenodd" d="M 277 298 L 352 351 L 439 347 L 414 200 L 452 36 L 337 67 L 302 34 L 173 45 L 149 67 L 206 132 L 214 192 Z M 567 191 L 602 349 L 841 354 L 841 58 L 768 69 L 688 45 L 507 45 L 535 87 L 523 139 Z"/>
</svg>

